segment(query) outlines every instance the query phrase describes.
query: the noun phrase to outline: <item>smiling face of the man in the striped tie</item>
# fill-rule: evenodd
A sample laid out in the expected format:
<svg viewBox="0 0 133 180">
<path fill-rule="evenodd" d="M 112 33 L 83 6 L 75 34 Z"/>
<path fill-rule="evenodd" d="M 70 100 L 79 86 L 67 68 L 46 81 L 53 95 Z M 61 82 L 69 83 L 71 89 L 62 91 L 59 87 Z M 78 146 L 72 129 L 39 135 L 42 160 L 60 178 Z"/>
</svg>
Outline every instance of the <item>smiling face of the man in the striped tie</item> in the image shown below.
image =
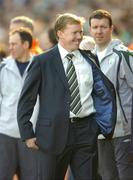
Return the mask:
<svg viewBox="0 0 133 180">
<path fill-rule="evenodd" d="M 67 24 L 64 30 L 57 32 L 59 42 L 67 51 L 74 51 L 79 48 L 83 38 L 83 29 L 80 24 Z"/>
</svg>

